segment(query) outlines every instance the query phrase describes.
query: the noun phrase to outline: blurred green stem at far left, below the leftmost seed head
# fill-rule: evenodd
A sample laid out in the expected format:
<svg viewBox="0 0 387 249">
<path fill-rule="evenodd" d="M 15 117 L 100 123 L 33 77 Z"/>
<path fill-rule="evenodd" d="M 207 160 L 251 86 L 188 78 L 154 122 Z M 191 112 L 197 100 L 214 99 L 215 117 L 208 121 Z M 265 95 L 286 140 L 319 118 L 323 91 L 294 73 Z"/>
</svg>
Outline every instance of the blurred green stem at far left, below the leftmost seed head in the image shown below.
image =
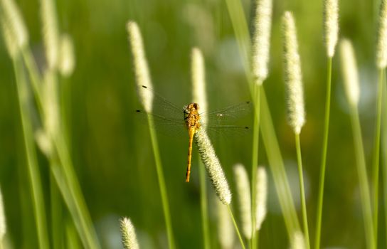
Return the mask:
<svg viewBox="0 0 387 249">
<path fill-rule="evenodd" d="M 46 211 L 44 206 L 43 191 L 41 185 L 41 176 L 36 159 L 36 148 L 33 139 L 33 128 L 28 112 L 28 89 L 26 75 L 23 69 L 23 63 L 20 58 L 14 61 L 14 70 L 16 76 L 16 87 L 18 92 L 18 105 L 21 115 L 21 127 L 23 129 L 24 147 L 26 149 L 26 159 L 28 166 L 28 175 L 31 181 L 31 191 L 33 198 L 33 214 L 36 220 L 36 229 L 38 233 L 39 248 L 49 248 L 48 231 L 46 224 Z"/>
</svg>

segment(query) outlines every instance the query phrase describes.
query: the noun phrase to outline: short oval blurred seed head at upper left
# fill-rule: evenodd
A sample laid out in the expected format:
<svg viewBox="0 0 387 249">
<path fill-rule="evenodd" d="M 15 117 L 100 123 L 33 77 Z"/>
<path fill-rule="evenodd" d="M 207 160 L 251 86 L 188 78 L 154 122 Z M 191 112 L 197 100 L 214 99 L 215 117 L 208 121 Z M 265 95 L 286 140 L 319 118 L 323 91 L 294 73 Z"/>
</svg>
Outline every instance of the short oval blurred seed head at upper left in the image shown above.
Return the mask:
<svg viewBox="0 0 387 249">
<path fill-rule="evenodd" d="M 73 74 L 75 67 L 75 54 L 73 40 L 68 34 L 60 38 L 60 62 L 59 71 L 64 77 Z"/>
</svg>

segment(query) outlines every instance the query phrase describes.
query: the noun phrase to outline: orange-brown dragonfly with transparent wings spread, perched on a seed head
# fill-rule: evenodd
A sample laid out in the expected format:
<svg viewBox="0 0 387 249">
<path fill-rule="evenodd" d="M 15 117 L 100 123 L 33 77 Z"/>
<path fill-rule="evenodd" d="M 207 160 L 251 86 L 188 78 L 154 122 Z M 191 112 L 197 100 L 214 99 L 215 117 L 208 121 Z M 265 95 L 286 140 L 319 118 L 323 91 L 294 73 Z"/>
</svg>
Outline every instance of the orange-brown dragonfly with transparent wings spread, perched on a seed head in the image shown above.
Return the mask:
<svg viewBox="0 0 387 249">
<path fill-rule="evenodd" d="M 139 91 L 150 91 L 153 95 L 152 112 L 136 110 L 139 115 L 146 115 L 154 121 L 156 129 L 162 132 L 179 134 L 181 128 L 188 130 L 189 146 L 186 168 L 186 182 L 189 182 L 191 175 L 192 144 L 194 135 L 198 129 L 206 129 L 211 134 L 244 134 L 249 132 L 250 127 L 229 124 L 238 118 L 247 115 L 252 110 L 250 101 L 231 105 L 221 110 L 211 112 L 200 112 L 198 103 L 191 102 L 183 108 L 176 107 L 172 102 L 162 97 L 151 88 L 142 85 Z M 201 120 L 206 120 L 202 122 Z"/>
</svg>

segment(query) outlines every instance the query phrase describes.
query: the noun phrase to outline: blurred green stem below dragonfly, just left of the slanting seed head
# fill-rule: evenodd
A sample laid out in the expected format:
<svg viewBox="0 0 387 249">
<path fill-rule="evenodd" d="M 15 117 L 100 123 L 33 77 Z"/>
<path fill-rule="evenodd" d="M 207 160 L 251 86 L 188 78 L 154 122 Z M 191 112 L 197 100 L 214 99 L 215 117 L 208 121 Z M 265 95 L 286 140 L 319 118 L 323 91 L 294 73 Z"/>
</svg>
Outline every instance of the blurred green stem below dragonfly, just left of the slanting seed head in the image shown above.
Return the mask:
<svg viewBox="0 0 387 249">
<path fill-rule="evenodd" d="M 200 158 L 200 157 L 199 157 Z M 203 229 L 203 248 L 210 249 L 210 228 L 208 223 L 208 203 L 207 203 L 207 184 L 206 184 L 206 170 L 204 165 L 199 160 L 199 181 L 200 181 L 200 206 L 201 206 L 201 225 Z"/>
</svg>

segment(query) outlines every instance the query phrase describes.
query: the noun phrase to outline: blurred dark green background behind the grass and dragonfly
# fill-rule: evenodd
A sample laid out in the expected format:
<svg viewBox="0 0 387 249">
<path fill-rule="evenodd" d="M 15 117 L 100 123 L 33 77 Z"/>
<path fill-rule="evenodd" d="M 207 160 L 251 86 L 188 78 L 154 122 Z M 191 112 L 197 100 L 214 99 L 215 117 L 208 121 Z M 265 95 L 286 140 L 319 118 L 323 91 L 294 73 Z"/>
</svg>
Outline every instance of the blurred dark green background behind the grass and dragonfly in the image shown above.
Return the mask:
<svg viewBox="0 0 387 249">
<path fill-rule="evenodd" d="M 236 0 L 235 0 L 236 1 Z M 31 36 L 31 48 L 43 63 L 39 3 L 17 1 Z M 243 0 L 250 16 L 250 1 Z M 354 42 L 361 79 L 359 105 L 367 165 L 371 165 L 375 120 L 375 41 L 379 1 L 340 1 L 340 37 Z M 154 89 L 183 106 L 191 100 L 191 48 L 206 59 L 209 109 L 249 100 L 238 46 L 226 3 L 221 0 L 85 0 L 56 1 L 60 31 L 75 45 L 76 66 L 65 84 L 65 108 L 73 164 L 103 248 L 121 248 L 120 216 L 129 216 L 142 248 L 166 248 L 166 230 L 159 197 L 147 122 L 135 117 L 137 100 L 125 23 L 139 23 Z M 314 238 L 319 165 L 324 124 L 326 56 L 322 39 L 322 1 L 274 1 L 270 75 L 265 92 L 293 196 L 299 200 L 294 137 L 285 117 L 280 17 L 285 10 L 296 18 L 307 109 L 302 129 L 302 157 L 307 182 L 307 209 Z M 8 234 L 14 248 L 37 248 L 36 229 L 26 175 L 25 150 L 14 71 L 0 41 L 0 182 Z M 322 218 L 322 247 L 364 248 L 364 224 L 348 107 L 338 56 L 333 60 L 332 110 Z M 250 169 L 250 137 L 216 141 L 216 151 L 232 189 L 232 166 Z M 184 182 L 187 139 L 159 136 L 171 220 L 178 248 L 201 248 L 198 155 L 194 148 L 191 183 Z M 264 147 L 260 164 L 267 166 Z M 382 149 L 386 153 L 386 149 Z M 40 152 L 39 152 L 40 153 Z M 46 204 L 49 203 L 48 164 L 42 154 Z M 385 162 L 384 162 L 385 164 Z M 267 168 L 269 169 L 269 168 Z M 369 175 L 371 171 L 369 170 Z M 23 179 L 25 181 L 23 181 Z M 287 248 L 287 234 L 270 179 L 268 216 L 260 235 L 261 248 Z M 209 189 L 211 244 L 218 248 L 216 208 Z M 380 191 L 381 197 L 383 191 Z M 380 198 L 381 198 L 380 197 Z M 235 196 L 233 202 L 235 203 Z M 379 248 L 385 248 L 383 201 L 380 204 Z M 237 210 L 237 207 L 233 207 Z M 299 210 L 299 201 L 297 201 Z M 299 212 L 300 214 L 300 212 Z M 238 213 L 236 213 L 238 219 Z M 235 238 L 236 240 L 236 238 Z"/>
</svg>

